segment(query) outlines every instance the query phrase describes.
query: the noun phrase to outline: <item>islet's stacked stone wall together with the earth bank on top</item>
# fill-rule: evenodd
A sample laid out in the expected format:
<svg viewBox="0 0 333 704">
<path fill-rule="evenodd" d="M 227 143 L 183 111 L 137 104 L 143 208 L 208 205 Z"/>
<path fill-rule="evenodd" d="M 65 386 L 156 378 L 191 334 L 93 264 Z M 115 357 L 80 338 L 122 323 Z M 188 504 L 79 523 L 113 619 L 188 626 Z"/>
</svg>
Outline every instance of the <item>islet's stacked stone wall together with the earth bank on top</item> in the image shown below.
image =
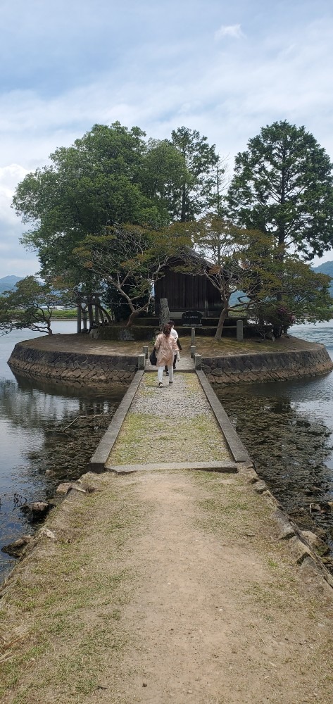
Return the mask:
<svg viewBox="0 0 333 704">
<path fill-rule="evenodd" d="M 333 369 L 322 344 L 290 337 L 282 345 L 275 342 L 272 346 L 272 352 L 260 351 L 259 345 L 258 352 L 253 352 L 249 346 L 246 349 L 244 341 L 241 353 L 238 349 L 230 351 L 227 346 L 223 354 L 208 357 L 202 353 L 201 369 L 213 386 L 301 379 Z M 201 351 L 199 341 L 197 349 Z M 38 379 L 128 386 L 138 369 L 140 354 L 142 342 L 112 343 L 96 341 L 89 335 L 52 335 L 16 344 L 8 364 L 13 372 Z M 187 356 L 189 349 L 183 344 L 181 361 L 186 361 Z"/>
</svg>

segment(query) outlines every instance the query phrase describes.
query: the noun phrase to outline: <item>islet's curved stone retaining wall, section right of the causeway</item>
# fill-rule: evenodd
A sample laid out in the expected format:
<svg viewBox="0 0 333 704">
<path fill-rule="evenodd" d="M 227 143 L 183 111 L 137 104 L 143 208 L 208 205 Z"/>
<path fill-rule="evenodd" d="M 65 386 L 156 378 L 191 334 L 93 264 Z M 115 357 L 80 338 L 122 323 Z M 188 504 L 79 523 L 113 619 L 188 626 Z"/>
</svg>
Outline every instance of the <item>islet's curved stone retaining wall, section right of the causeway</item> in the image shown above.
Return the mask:
<svg viewBox="0 0 333 704">
<path fill-rule="evenodd" d="M 324 345 L 311 344 L 308 350 L 204 357 L 201 368 L 213 386 L 225 386 L 315 377 L 330 372 L 333 363 Z"/>
</svg>

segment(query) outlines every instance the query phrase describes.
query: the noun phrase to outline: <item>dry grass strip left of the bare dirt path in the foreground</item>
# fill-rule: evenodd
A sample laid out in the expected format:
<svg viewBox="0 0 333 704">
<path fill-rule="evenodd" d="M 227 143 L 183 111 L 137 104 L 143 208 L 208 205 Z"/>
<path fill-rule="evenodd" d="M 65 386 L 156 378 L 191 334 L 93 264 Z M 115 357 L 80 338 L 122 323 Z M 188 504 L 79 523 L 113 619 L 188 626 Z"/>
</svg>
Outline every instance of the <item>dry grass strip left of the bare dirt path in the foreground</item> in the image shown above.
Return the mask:
<svg viewBox="0 0 333 704">
<path fill-rule="evenodd" d="M 68 543 L 44 539 L 40 558 L 18 565 L 1 600 L 8 643 L 8 660 L 0 662 L 1 698 L 10 693 L 17 704 L 82 704 L 113 658 L 116 667 L 129 638 L 122 607 L 137 580 L 120 563 L 120 551 L 127 554 L 146 508 L 137 505 L 131 486 L 112 491 L 112 481 L 109 475 L 96 479 L 99 491 L 54 514 L 51 527 L 56 535 L 65 532 Z M 15 637 L 21 623 L 24 635 Z"/>
</svg>

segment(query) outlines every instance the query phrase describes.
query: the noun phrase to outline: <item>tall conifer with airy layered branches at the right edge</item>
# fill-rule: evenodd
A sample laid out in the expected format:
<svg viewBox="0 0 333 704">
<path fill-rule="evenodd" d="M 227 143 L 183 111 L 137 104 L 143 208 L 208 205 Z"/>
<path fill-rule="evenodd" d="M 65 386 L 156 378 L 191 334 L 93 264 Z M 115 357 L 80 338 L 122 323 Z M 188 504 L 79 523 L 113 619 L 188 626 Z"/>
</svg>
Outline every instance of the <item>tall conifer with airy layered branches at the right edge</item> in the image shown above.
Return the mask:
<svg viewBox="0 0 333 704">
<path fill-rule="evenodd" d="M 235 159 L 227 194 L 233 222 L 274 234 L 307 259 L 333 246 L 332 163 L 304 127 L 263 127 Z"/>
</svg>

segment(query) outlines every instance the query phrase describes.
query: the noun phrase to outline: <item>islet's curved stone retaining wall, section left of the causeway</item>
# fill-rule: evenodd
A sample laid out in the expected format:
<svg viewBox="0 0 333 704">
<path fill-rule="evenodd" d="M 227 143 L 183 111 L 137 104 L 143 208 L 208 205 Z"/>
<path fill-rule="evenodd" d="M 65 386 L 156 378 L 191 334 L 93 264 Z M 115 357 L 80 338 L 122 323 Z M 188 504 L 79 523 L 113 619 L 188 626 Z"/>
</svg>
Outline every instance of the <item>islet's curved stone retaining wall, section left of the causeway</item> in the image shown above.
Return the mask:
<svg viewBox="0 0 333 704">
<path fill-rule="evenodd" d="M 87 355 L 44 351 L 16 344 L 8 365 L 13 372 L 84 384 L 130 384 L 137 370 L 137 356 Z"/>
</svg>

